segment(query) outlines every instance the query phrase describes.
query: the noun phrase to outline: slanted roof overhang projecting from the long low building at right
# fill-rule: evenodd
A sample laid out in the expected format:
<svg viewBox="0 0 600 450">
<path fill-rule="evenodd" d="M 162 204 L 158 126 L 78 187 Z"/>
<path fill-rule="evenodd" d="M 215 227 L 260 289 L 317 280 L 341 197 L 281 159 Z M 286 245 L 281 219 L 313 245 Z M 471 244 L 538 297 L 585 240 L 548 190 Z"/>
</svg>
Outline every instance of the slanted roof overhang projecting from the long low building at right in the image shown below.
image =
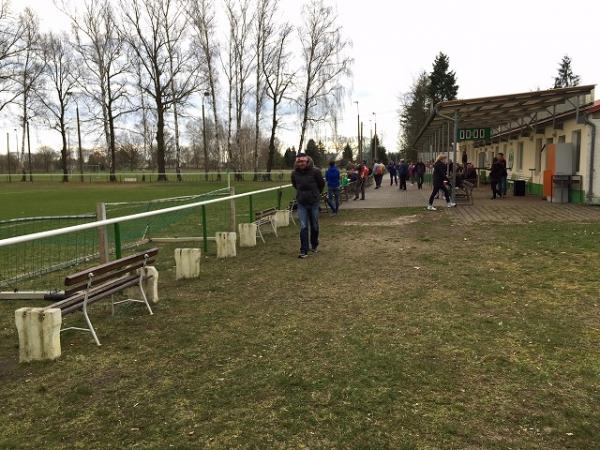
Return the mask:
<svg viewBox="0 0 600 450">
<path fill-rule="evenodd" d="M 419 132 L 415 146 L 436 135 L 445 137 L 449 134 L 446 127 L 455 118 L 459 128 L 492 128 L 497 132 L 502 127 L 533 126 L 567 110 L 578 110 L 579 107 L 589 105 L 591 98 L 588 96 L 594 87 L 595 85 L 590 84 L 441 102 L 435 106 Z"/>
</svg>

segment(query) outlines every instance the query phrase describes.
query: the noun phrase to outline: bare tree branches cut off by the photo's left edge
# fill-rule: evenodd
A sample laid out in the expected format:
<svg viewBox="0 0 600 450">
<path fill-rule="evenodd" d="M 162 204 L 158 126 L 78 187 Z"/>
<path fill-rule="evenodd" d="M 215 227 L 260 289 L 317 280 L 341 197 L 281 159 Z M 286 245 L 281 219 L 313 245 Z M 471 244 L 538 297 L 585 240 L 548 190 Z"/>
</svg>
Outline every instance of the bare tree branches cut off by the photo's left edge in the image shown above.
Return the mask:
<svg viewBox="0 0 600 450">
<path fill-rule="evenodd" d="M 21 21 L 15 21 L 10 14 L 10 2 L 0 0 L 0 111 L 21 95 L 15 86 L 15 57 L 21 51 L 22 34 Z"/>
</svg>

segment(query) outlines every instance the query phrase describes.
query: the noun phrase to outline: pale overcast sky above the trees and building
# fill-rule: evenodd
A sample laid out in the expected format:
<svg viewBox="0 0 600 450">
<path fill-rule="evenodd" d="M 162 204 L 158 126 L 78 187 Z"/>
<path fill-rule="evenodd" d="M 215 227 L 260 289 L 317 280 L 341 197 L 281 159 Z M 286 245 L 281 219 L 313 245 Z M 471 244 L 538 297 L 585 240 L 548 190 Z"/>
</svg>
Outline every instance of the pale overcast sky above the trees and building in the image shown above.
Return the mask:
<svg viewBox="0 0 600 450">
<path fill-rule="evenodd" d="M 282 16 L 297 24 L 302 2 L 281 2 Z M 45 31 L 68 28 L 68 21 L 51 0 L 13 0 L 12 4 L 15 12 L 32 7 Z M 376 112 L 379 134 L 391 151 L 397 143 L 398 97 L 410 89 L 421 71 L 431 70 L 440 51 L 450 57 L 451 69 L 456 71 L 459 98 L 550 88 L 565 54 L 572 58 L 582 84 L 600 83 L 597 0 L 339 0 L 332 4 L 353 42 L 355 60 L 352 92 L 339 133 L 356 134 L 353 101 L 358 101 L 365 135 L 369 135 L 369 120 Z M 224 36 L 225 24 L 221 25 Z M 5 132 L 14 134 L 14 125 L 6 119 L 3 125 Z M 286 144 L 297 145 L 297 126 L 297 117 L 287 118 Z M 322 133 L 328 130 L 323 128 Z M 31 134 L 32 147 L 43 143 L 58 147 L 55 131 L 38 129 Z"/>
</svg>

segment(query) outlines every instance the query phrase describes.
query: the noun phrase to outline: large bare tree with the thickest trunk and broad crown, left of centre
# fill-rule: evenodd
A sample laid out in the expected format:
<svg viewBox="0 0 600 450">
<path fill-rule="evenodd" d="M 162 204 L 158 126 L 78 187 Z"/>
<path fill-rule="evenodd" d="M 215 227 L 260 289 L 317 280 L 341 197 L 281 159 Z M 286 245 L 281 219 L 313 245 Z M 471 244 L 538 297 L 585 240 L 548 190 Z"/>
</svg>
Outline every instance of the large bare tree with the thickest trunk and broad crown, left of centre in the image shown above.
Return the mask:
<svg viewBox="0 0 600 450">
<path fill-rule="evenodd" d="M 181 7 L 174 0 L 121 0 L 123 34 L 141 69 L 140 85 L 154 101 L 159 181 L 167 180 L 165 115 L 174 104 L 184 104 L 200 86 L 197 58 L 183 48 L 185 27 L 181 21 L 163 23 L 165 9 L 180 16 Z M 175 78 L 177 83 L 172 82 Z"/>
</svg>

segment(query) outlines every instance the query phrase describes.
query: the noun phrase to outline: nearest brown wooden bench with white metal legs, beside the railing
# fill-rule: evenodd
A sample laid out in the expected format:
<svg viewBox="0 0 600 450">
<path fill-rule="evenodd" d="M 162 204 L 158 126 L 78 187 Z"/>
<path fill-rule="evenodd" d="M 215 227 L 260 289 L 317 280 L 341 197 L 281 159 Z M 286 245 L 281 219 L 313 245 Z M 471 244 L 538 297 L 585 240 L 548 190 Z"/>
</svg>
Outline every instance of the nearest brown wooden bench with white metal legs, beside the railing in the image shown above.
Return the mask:
<svg viewBox="0 0 600 450">
<path fill-rule="evenodd" d="M 100 341 L 90 320 L 88 306 L 104 298 L 111 297 L 113 313 L 114 305 L 136 302 L 144 303 L 148 312 L 152 315 L 152 308 L 150 308 L 146 292 L 144 291 L 144 282 L 150 278 L 146 267 L 155 261 L 157 255 L 158 248 L 152 248 L 69 275 L 65 278 L 64 298 L 44 309 L 58 308 L 61 310 L 62 316 L 81 310 L 87 328 L 68 327 L 61 329 L 61 333 L 67 330 L 88 331 L 94 337 L 96 344 L 100 345 Z M 133 286 L 139 286 L 143 300 L 127 299 L 114 301 L 114 294 Z"/>
</svg>

